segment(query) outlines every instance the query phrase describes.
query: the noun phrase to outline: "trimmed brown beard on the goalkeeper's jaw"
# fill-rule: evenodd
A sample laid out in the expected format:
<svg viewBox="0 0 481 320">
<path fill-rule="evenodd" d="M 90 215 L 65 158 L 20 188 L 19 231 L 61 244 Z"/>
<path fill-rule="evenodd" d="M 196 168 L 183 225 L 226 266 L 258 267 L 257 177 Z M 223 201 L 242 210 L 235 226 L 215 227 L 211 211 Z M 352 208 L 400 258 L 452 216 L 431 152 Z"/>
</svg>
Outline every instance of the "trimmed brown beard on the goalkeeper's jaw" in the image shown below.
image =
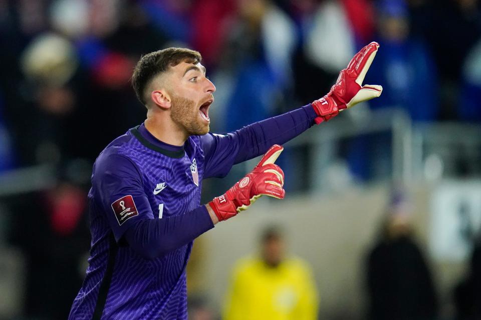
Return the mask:
<svg viewBox="0 0 481 320">
<path fill-rule="evenodd" d="M 193 100 L 173 94 L 170 96 L 172 121 L 183 127 L 189 135 L 203 135 L 209 132 L 209 124 L 201 121 L 199 110 Z"/>
</svg>

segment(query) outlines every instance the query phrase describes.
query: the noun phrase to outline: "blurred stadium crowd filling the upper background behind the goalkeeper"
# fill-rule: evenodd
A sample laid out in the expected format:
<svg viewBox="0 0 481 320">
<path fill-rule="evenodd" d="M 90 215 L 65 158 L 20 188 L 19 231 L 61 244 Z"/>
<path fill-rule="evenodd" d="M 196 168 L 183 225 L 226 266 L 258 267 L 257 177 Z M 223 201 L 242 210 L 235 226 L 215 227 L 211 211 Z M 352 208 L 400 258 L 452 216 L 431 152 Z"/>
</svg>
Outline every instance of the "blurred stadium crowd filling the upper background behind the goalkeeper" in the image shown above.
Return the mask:
<svg viewBox="0 0 481 320">
<path fill-rule="evenodd" d="M 133 65 L 174 45 L 203 55 L 217 132 L 319 98 L 374 39 L 366 83 L 385 90 L 370 109 L 479 121 L 479 14 L 476 0 L 2 0 L 0 167 L 94 160 L 144 117 Z"/>
</svg>

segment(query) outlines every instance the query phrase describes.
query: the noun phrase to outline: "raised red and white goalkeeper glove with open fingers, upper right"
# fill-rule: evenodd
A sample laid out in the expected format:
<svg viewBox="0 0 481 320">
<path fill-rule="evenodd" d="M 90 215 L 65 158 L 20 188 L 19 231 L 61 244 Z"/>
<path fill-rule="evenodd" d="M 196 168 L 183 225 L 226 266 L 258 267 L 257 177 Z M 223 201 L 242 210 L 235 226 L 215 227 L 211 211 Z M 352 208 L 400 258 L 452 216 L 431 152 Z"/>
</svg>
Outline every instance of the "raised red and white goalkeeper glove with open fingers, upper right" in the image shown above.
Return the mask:
<svg viewBox="0 0 481 320">
<path fill-rule="evenodd" d="M 315 119 L 317 124 L 335 117 L 343 109 L 381 95 L 382 86 L 362 85 L 378 48 L 379 43 L 377 42 L 371 42 L 363 47 L 354 55 L 347 68 L 339 73 L 331 91 L 319 100 L 312 102 L 318 115 Z"/>
</svg>

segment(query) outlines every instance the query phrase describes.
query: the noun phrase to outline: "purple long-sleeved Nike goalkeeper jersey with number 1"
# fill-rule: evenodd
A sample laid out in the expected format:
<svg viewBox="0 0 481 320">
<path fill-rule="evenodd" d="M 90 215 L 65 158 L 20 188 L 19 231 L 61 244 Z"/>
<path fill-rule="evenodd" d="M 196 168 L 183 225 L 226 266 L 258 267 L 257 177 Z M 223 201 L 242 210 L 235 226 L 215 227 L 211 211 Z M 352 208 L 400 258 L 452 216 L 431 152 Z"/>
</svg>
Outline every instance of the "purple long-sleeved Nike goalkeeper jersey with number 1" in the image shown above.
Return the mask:
<svg viewBox="0 0 481 320">
<path fill-rule="evenodd" d="M 200 205 L 202 179 L 225 176 L 316 116 L 307 105 L 235 132 L 190 136 L 183 146 L 143 124 L 113 140 L 93 167 L 89 266 L 69 319 L 186 319 L 193 239 L 213 227 Z"/>
</svg>

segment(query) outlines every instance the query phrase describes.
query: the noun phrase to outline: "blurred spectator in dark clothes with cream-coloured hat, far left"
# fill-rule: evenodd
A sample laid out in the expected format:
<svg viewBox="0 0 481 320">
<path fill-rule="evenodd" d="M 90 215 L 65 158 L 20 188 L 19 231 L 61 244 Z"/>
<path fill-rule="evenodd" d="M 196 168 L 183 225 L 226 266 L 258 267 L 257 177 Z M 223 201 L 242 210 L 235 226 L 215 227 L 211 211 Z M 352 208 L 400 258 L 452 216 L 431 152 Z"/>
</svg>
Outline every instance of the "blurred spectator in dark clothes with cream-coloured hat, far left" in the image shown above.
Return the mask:
<svg viewBox="0 0 481 320">
<path fill-rule="evenodd" d="M 71 41 L 55 33 L 34 37 L 22 52 L 25 80 L 15 90 L 10 112 L 21 165 L 58 163 L 77 154 L 80 132 L 75 78 L 78 59 Z M 18 119 L 22 119 L 19 121 Z"/>
</svg>

